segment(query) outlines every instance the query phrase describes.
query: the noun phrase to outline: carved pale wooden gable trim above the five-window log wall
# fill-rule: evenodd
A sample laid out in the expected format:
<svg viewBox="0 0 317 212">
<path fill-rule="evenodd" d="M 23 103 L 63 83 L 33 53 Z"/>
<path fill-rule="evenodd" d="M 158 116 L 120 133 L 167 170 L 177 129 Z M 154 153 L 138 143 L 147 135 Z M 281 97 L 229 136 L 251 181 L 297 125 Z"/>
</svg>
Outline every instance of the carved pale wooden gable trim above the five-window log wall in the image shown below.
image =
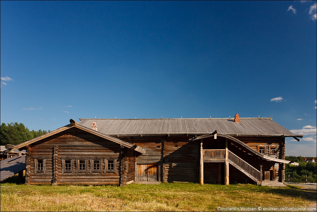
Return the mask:
<svg viewBox="0 0 317 212">
<path fill-rule="evenodd" d="M 75 127 L 75 128 L 84 130 L 84 131 L 86 131 L 86 132 L 88 132 L 88 133 L 92 133 L 92 134 L 94 134 L 94 135 L 97 135 L 97 136 L 99 136 L 99 137 L 101 137 L 101 138 L 104 138 L 104 139 L 113 141 L 113 142 L 115 142 L 115 143 L 118 143 L 118 144 L 120 144 L 122 147 L 127 147 L 127 148 L 130 148 L 130 149 L 133 149 L 133 150 L 135 150 L 135 151 L 137 151 L 137 152 L 139 152 L 139 153 L 145 153 L 145 152 L 146 152 L 145 149 L 139 147 L 138 145 L 133 145 L 133 144 L 130 144 L 130 143 L 126 142 L 126 141 L 123 141 L 123 140 L 114 138 L 114 137 L 112 137 L 112 136 L 109 136 L 109 135 L 100 133 L 100 132 L 98 132 L 98 131 L 96 131 L 96 130 L 93 130 L 93 129 L 90 129 L 90 128 L 87 128 L 87 127 L 85 127 L 85 126 L 82 126 L 82 125 L 79 124 L 78 122 L 74 121 L 73 119 L 70 119 L 69 122 L 70 122 L 70 124 L 68 124 L 68 125 L 66 125 L 66 126 L 64 126 L 64 127 L 58 128 L 58 129 L 53 130 L 53 131 L 51 131 L 51 132 L 49 132 L 49 133 L 46 133 L 46 134 L 41 135 L 41 136 L 39 136 L 39 137 L 36 137 L 36 138 L 34 138 L 34 139 L 31 139 L 31 140 L 25 141 L 25 142 L 23 142 L 23 143 L 21 143 L 21 144 L 18 144 L 18 145 L 16 145 L 16 146 L 10 148 L 10 151 L 13 151 L 13 150 L 15 150 L 15 149 L 20 149 L 20 148 L 25 147 L 25 146 L 27 146 L 27 145 L 29 145 L 29 144 L 32 144 L 32 143 L 37 142 L 37 141 L 39 141 L 39 140 L 45 139 L 45 138 L 47 138 L 47 137 L 49 137 L 49 136 L 52 136 L 52 135 L 55 135 L 55 134 L 57 134 L 57 133 L 63 132 L 63 131 L 68 130 L 68 129 L 72 128 L 72 127 Z M 7 151 L 7 150 L 6 150 L 6 151 Z M 3 153 L 6 153 L 6 151 L 4 151 Z"/>
</svg>

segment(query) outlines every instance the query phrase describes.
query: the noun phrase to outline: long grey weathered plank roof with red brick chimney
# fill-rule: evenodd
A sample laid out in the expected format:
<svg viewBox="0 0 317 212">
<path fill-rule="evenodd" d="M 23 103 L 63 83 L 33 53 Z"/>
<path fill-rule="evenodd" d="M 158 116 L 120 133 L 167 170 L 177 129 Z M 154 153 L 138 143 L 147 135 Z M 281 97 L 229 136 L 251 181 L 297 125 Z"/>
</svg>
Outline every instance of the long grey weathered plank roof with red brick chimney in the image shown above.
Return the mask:
<svg viewBox="0 0 317 212">
<path fill-rule="evenodd" d="M 184 118 L 184 119 L 79 119 L 90 127 L 96 122 L 98 132 L 107 135 L 206 134 L 217 130 L 227 135 L 302 137 L 294 135 L 272 118 Z"/>
</svg>

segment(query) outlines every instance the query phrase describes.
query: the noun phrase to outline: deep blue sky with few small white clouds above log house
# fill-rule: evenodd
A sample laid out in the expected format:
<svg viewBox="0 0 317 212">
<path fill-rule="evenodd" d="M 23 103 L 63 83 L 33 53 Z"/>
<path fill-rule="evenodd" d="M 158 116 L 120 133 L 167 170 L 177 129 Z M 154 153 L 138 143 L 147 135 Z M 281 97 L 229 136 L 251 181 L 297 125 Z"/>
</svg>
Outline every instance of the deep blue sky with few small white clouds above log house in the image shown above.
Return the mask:
<svg viewBox="0 0 317 212">
<path fill-rule="evenodd" d="M 1 123 L 273 117 L 316 156 L 316 1 L 1 1 Z"/>
</svg>

